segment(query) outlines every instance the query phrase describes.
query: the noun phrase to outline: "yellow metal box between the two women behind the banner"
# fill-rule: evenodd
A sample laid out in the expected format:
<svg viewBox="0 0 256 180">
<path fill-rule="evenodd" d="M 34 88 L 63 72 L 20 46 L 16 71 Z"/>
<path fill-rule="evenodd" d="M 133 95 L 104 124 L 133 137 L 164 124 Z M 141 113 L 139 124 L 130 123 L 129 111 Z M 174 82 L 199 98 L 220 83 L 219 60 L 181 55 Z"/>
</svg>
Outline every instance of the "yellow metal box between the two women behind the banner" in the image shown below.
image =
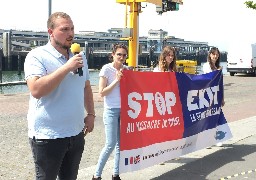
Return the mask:
<svg viewBox="0 0 256 180">
<path fill-rule="evenodd" d="M 189 74 L 197 74 L 196 60 L 176 60 L 177 70 Z"/>
</svg>

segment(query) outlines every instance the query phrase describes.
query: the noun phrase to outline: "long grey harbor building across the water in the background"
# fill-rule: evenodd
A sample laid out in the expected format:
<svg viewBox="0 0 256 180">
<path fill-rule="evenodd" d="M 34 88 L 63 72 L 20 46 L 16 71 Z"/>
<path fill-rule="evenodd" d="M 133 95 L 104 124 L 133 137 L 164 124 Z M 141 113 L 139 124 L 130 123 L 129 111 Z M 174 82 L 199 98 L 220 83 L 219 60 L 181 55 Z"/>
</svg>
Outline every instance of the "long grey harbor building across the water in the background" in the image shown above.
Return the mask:
<svg viewBox="0 0 256 180">
<path fill-rule="evenodd" d="M 124 35 L 123 28 L 111 28 L 107 32 L 79 31 L 75 34 L 74 43 L 79 43 L 86 52 L 90 69 L 100 69 L 109 62 L 112 45 L 124 43 L 121 38 Z M 48 33 L 45 31 L 4 30 L 0 29 L 0 67 L 2 70 L 23 70 L 23 64 L 27 53 L 48 42 Z M 149 30 L 148 36 L 139 37 L 138 65 L 150 67 L 155 64 L 162 47 L 171 45 L 177 50 L 180 60 L 206 61 L 208 50 L 211 46 L 208 42 L 186 41 L 182 38 L 168 35 L 167 31 Z M 226 52 L 222 52 L 222 61 L 226 60 Z"/>
</svg>

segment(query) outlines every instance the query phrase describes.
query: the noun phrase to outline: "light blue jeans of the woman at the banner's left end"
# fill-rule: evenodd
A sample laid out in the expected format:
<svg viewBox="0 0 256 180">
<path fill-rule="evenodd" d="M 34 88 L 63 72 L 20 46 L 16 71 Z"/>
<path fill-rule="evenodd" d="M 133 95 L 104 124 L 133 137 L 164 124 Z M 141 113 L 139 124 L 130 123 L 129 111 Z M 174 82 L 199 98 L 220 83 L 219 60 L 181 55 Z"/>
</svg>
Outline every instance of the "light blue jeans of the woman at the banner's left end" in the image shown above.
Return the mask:
<svg viewBox="0 0 256 180">
<path fill-rule="evenodd" d="M 103 122 L 105 125 L 106 143 L 99 156 L 95 175 L 101 177 L 103 168 L 115 148 L 113 175 L 119 175 L 120 159 L 120 108 L 104 109 Z"/>
</svg>

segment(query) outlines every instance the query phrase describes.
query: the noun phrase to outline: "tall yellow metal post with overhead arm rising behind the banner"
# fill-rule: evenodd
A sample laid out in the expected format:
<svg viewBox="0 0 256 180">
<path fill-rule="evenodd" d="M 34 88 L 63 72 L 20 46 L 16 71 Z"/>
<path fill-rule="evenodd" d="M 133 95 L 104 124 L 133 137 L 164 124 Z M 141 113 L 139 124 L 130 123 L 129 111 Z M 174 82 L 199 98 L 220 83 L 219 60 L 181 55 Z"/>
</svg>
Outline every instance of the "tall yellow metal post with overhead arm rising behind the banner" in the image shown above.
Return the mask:
<svg viewBox="0 0 256 180">
<path fill-rule="evenodd" d="M 129 41 L 128 66 L 136 68 L 138 66 L 139 52 L 139 13 L 141 13 L 141 3 L 148 2 L 156 5 L 156 12 L 162 14 L 167 11 L 178 11 L 183 0 L 116 0 L 117 3 L 124 4 L 125 8 L 125 28 L 123 30 L 124 40 Z M 129 14 L 128 14 L 129 6 Z M 129 15 L 129 26 L 127 25 Z"/>
</svg>

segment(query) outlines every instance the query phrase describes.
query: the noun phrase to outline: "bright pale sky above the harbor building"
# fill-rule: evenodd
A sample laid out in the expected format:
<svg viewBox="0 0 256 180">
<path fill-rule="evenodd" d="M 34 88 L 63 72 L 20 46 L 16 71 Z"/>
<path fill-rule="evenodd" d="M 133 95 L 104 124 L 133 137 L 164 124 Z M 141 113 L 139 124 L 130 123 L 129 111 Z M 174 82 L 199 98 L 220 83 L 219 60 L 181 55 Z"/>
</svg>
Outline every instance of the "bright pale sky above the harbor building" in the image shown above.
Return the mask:
<svg viewBox="0 0 256 180">
<path fill-rule="evenodd" d="M 256 42 L 256 10 L 245 0 L 183 0 L 179 11 L 158 15 L 155 5 L 142 3 L 140 36 L 163 29 L 188 41 L 203 41 L 228 50 L 230 44 Z M 1 3 L 0 28 L 46 31 L 48 0 L 8 0 Z M 10 8 L 8 8 L 10 7 Z M 67 12 L 75 30 L 103 31 L 125 26 L 125 6 L 116 0 L 52 0 L 52 12 Z"/>
</svg>

